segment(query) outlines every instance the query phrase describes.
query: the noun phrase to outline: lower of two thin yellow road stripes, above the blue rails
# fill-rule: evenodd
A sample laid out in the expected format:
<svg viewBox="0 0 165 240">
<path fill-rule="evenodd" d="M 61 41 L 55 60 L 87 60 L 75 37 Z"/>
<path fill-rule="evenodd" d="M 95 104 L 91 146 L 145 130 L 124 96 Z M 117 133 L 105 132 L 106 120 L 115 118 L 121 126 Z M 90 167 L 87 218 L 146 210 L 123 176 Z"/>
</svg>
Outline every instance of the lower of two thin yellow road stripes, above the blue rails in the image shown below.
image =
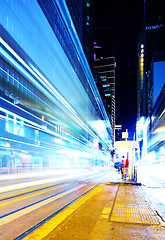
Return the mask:
<svg viewBox="0 0 165 240">
<path fill-rule="evenodd" d="M 20 202 L 20 201 L 28 199 L 28 198 L 36 197 L 36 196 L 38 196 L 40 194 L 43 194 L 43 193 L 46 193 L 46 192 L 50 192 L 52 190 L 55 190 L 55 189 L 58 189 L 58 188 L 61 188 L 61 187 L 65 187 L 67 185 L 69 185 L 69 184 L 64 184 L 64 185 L 57 186 L 57 187 L 54 187 L 54 188 L 51 188 L 51 189 L 47 189 L 47 190 L 42 191 L 42 192 L 37 192 L 37 193 L 31 194 L 30 196 L 25 196 L 25 197 L 22 197 L 22 198 L 13 199 L 11 201 L 7 201 L 7 202 L 4 202 L 4 203 L 1 203 L 0 207 L 4 207 L 4 206 L 10 205 L 12 203 Z"/>
</svg>

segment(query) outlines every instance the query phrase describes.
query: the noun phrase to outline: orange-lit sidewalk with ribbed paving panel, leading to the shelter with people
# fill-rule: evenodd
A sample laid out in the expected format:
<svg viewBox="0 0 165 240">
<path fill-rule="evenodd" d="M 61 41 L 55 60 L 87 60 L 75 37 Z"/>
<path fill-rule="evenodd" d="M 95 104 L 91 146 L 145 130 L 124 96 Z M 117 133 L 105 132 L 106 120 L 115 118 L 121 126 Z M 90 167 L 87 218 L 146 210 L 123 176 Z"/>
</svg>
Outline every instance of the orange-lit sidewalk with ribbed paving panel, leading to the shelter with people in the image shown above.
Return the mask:
<svg viewBox="0 0 165 240">
<path fill-rule="evenodd" d="M 46 224 L 41 229 L 44 232 L 49 222 Z M 139 186 L 108 183 L 43 239 L 164 240 L 163 224 Z"/>
</svg>

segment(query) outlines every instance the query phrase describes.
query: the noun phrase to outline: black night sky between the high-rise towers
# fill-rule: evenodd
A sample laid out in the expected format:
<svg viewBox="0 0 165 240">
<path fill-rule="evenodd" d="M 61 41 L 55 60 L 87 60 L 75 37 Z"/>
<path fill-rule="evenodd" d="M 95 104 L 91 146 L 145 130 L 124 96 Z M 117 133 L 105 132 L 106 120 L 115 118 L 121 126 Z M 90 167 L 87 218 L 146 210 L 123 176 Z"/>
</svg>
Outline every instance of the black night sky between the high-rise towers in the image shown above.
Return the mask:
<svg viewBox="0 0 165 240">
<path fill-rule="evenodd" d="M 134 130 L 137 116 L 137 45 L 143 0 L 94 1 L 94 41 L 98 56 L 116 59 L 116 124 Z"/>
</svg>

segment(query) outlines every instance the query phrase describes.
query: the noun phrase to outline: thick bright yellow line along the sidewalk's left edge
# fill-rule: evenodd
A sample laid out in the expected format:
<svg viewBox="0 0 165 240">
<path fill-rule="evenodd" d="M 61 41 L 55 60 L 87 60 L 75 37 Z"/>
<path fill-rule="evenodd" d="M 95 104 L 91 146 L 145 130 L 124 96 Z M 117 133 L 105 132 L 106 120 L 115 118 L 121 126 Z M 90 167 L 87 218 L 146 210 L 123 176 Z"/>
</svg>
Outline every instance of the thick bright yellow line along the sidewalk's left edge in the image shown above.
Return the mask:
<svg viewBox="0 0 165 240">
<path fill-rule="evenodd" d="M 81 205 L 83 205 L 88 199 L 93 195 L 102 190 L 104 185 L 99 185 L 98 187 L 91 190 L 89 193 L 84 195 L 82 198 L 77 200 L 75 203 L 70 205 L 68 208 L 57 214 L 55 217 L 50 219 L 48 222 L 44 223 L 41 227 L 34 230 L 28 236 L 24 237 L 24 240 L 40 240 L 46 237 L 51 231 L 53 231 L 61 222 L 63 222 L 69 215 L 75 212 Z"/>
</svg>

